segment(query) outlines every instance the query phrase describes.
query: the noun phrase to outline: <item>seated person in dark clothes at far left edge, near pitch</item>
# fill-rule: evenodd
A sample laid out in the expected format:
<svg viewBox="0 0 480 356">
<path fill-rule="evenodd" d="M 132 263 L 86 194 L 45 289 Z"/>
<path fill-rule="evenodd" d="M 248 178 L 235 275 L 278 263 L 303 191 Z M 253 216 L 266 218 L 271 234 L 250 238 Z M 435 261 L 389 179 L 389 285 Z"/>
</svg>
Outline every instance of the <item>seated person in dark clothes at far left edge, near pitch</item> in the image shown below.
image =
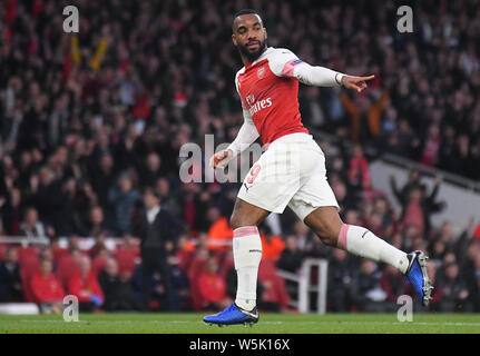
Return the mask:
<svg viewBox="0 0 480 356">
<path fill-rule="evenodd" d="M 18 250 L 9 247 L 0 261 L 0 303 L 20 301 L 22 298 Z"/>
</svg>

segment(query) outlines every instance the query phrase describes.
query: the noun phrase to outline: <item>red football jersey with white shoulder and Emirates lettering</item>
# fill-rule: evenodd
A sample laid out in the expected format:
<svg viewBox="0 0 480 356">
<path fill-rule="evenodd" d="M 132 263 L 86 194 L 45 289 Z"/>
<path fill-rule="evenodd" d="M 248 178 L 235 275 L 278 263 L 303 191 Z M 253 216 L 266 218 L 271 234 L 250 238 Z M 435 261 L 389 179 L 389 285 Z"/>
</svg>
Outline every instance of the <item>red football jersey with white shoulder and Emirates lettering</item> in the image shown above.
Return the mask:
<svg viewBox="0 0 480 356">
<path fill-rule="evenodd" d="M 298 110 L 298 80 L 293 77 L 300 63 L 292 51 L 270 47 L 236 73 L 242 106 L 249 111 L 264 145 L 285 135 L 308 134 Z"/>
</svg>

